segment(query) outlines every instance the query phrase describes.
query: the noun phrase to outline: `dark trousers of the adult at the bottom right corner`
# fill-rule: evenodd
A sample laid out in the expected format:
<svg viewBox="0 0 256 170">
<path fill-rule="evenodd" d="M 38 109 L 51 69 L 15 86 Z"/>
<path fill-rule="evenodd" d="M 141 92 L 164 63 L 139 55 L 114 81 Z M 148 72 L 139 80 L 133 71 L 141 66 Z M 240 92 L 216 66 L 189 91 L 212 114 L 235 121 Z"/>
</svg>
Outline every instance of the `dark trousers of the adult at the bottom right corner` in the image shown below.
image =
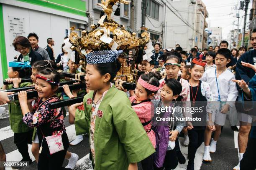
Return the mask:
<svg viewBox="0 0 256 170">
<path fill-rule="evenodd" d="M 240 162 L 240 170 L 255 170 L 256 161 L 256 138 L 249 138 L 246 152 L 243 154 L 243 159 Z"/>
</svg>

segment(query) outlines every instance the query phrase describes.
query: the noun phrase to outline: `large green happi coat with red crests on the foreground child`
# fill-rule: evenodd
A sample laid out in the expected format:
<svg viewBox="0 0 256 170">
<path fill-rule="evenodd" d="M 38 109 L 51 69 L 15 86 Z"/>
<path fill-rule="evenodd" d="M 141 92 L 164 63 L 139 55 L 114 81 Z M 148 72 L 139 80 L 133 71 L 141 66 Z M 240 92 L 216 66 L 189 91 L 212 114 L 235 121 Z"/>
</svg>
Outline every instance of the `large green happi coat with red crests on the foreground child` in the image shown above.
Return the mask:
<svg viewBox="0 0 256 170">
<path fill-rule="evenodd" d="M 84 112 L 76 112 L 77 135 L 90 132 L 92 97 L 93 91 L 85 95 Z M 102 114 L 95 120 L 95 170 L 127 170 L 129 163 L 155 152 L 125 92 L 110 87 L 98 110 Z"/>
</svg>

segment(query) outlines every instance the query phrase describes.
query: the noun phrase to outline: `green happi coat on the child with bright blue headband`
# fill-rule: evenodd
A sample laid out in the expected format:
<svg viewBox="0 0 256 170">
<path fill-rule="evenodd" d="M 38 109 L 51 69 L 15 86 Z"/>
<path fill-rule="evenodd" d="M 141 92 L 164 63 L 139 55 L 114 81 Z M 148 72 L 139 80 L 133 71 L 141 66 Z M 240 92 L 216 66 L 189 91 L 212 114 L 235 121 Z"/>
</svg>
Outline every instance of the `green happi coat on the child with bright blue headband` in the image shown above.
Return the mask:
<svg viewBox="0 0 256 170">
<path fill-rule="evenodd" d="M 19 87 L 27 87 L 31 85 L 31 82 L 22 82 L 19 84 Z M 7 89 L 12 89 L 13 85 L 8 85 Z M 33 128 L 29 128 L 22 120 L 23 115 L 20 108 L 19 100 L 15 102 L 10 102 L 9 104 L 9 120 L 10 120 L 10 128 L 14 133 L 24 133 L 29 130 L 33 130 Z"/>
</svg>

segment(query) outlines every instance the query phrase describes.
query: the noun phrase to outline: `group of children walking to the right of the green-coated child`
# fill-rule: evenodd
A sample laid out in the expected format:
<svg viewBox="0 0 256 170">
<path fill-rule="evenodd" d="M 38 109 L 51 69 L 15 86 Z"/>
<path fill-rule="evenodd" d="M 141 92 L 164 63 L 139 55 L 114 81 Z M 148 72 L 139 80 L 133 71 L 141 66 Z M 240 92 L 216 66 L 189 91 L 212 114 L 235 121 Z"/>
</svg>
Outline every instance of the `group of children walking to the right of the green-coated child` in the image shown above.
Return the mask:
<svg viewBox="0 0 256 170">
<path fill-rule="evenodd" d="M 198 60 L 196 57 L 193 57 L 192 62 L 189 63 L 189 65 L 186 65 L 186 61 L 184 60 L 186 58 L 184 57 L 184 55 L 181 54 L 179 56 L 175 55 L 173 52 L 167 52 L 161 55 L 161 57 L 159 58 L 159 64 L 163 62 L 164 65 L 158 69 L 154 69 L 154 63 L 151 61 L 148 62 L 147 60 L 144 60 L 141 63 L 141 65 L 143 66 L 143 70 L 150 72 L 147 76 L 150 75 L 151 79 L 147 78 L 146 80 L 151 80 L 151 85 L 141 85 L 139 80 L 142 79 L 144 75 L 141 76 L 136 85 L 136 96 L 130 97 L 132 99 L 130 100 L 133 101 L 132 106 L 134 105 L 134 102 L 140 102 L 139 105 L 141 105 L 141 107 L 136 108 L 133 106 L 133 108 L 135 109 L 142 124 L 147 121 L 145 119 L 142 119 L 143 116 L 145 117 L 145 115 L 141 115 L 141 111 L 144 108 L 143 105 L 145 105 L 148 100 L 152 98 L 155 99 L 151 101 L 152 103 L 154 103 L 155 109 L 157 107 L 165 106 L 164 102 L 172 102 L 172 100 L 174 99 L 176 102 L 182 101 L 182 104 L 179 105 L 181 107 L 203 106 L 203 108 L 205 108 L 205 110 L 203 110 L 203 112 L 201 113 L 190 114 L 190 112 L 182 112 L 183 114 L 181 116 L 190 116 L 195 118 L 200 117 L 202 119 L 200 121 L 192 122 L 184 121 L 183 126 L 177 125 L 177 127 L 181 127 L 179 128 L 179 130 L 174 130 L 173 127 L 170 126 L 172 123 L 169 122 L 169 124 L 167 124 L 167 127 L 169 126 L 169 134 L 167 135 L 165 134 L 164 128 L 155 128 L 153 126 L 156 140 L 158 139 L 158 136 L 166 136 L 166 139 L 175 141 L 177 140 L 177 136 L 179 135 L 179 133 L 184 133 L 184 143 L 188 142 L 189 140 L 189 162 L 187 165 L 187 170 L 194 169 L 195 153 L 202 144 L 202 142 L 205 143 L 203 160 L 207 162 L 212 161 L 210 153 L 216 152 L 216 144 L 221 133 L 221 126 L 225 124 L 226 116 L 230 116 L 231 111 L 234 109 L 235 101 L 238 96 L 238 91 L 236 88 L 236 83 L 232 81 L 233 79 L 235 79 L 234 74 L 230 72 L 230 70 L 228 70 L 226 67 L 226 65 L 230 62 L 230 56 L 230 50 L 223 48 L 218 50 L 216 54 L 215 52 L 208 52 L 205 56 L 205 62 L 200 59 Z M 184 65 L 182 65 L 182 63 Z M 181 68 L 182 66 L 183 68 Z M 150 88 L 148 88 L 148 86 L 158 86 L 158 84 L 156 83 L 156 78 L 154 78 L 155 73 L 153 74 L 151 72 L 158 72 L 162 68 L 164 68 L 166 77 L 159 80 L 161 87 L 159 87 L 159 90 L 157 90 L 158 92 L 149 90 Z M 155 83 L 153 83 L 154 79 L 156 81 Z M 171 85 L 169 85 L 172 84 L 171 82 L 169 82 L 170 80 L 176 80 L 175 83 L 179 82 L 181 90 L 179 91 L 177 87 L 172 87 Z M 144 88 L 142 88 L 141 86 Z M 143 93 L 143 91 L 148 95 L 148 97 L 145 96 L 144 98 L 142 98 L 142 100 L 139 97 L 141 93 Z M 179 93 L 176 94 L 176 92 Z M 166 100 L 167 94 L 170 95 L 169 100 Z M 159 101 L 161 101 L 162 103 Z M 159 103 L 159 105 L 157 105 L 156 103 Z M 146 107 L 143 112 L 148 112 L 148 117 L 152 117 L 152 112 L 150 112 L 150 109 L 150 104 L 148 104 L 148 107 Z M 176 113 L 176 116 L 177 115 L 179 115 L 178 112 Z M 156 111 L 154 116 L 152 117 L 153 125 L 155 123 L 154 120 L 156 120 L 155 116 Z M 148 120 L 150 119 L 148 118 Z M 179 122 L 179 125 L 181 124 L 182 123 Z M 183 128 L 185 125 L 186 128 Z M 148 129 L 146 129 L 145 127 L 144 129 L 146 130 L 146 132 L 148 131 Z M 214 134 L 211 140 L 213 131 Z M 157 135 L 158 133 L 159 135 Z M 177 167 L 178 161 L 179 163 L 182 163 L 183 156 L 180 155 L 179 143 L 175 143 L 177 143 L 178 148 L 176 145 L 176 148 L 172 149 L 177 152 L 172 153 L 170 152 L 170 150 L 168 150 L 168 140 L 161 139 L 160 144 L 156 141 L 156 145 L 155 143 L 152 143 L 153 146 L 156 148 L 156 155 L 154 158 L 154 164 L 151 165 L 151 168 L 147 169 L 175 169 Z M 163 146 L 165 148 L 164 152 L 162 150 Z M 165 158 L 167 158 L 167 160 Z M 144 163 L 142 161 L 142 166 L 144 166 L 143 164 Z M 150 164 L 147 165 L 149 166 Z"/>
</svg>

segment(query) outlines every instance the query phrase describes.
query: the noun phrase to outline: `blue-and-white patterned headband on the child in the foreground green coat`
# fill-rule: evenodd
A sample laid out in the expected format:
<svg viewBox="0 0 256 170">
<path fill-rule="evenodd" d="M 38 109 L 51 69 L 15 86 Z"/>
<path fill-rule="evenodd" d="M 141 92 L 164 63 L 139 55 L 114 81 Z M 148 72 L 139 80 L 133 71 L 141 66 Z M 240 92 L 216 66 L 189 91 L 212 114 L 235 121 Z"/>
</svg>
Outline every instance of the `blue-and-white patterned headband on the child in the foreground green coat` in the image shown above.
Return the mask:
<svg viewBox="0 0 256 170">
<path fill-rule="evenodd" d="M 107 62 L 115 62 L 118 55 L 122 54 L 123 50 L 112 51 L 94 51 L 85 56 L 87 64 L 101 64 Z"/>
</svg>

